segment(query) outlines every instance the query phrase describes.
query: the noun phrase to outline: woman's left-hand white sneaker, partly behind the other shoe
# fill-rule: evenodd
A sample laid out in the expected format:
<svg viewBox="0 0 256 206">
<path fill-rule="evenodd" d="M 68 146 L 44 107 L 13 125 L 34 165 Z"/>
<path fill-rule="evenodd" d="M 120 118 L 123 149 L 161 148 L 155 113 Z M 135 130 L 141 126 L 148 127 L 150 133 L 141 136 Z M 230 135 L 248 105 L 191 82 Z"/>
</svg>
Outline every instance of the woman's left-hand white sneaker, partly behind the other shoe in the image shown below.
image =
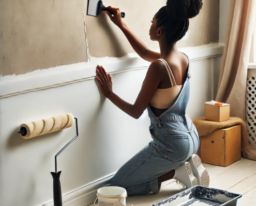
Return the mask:
<svg viewBox="0 0 256 206">
<path fill-rule="evenodd" d="M 198 179 L 193 176 L 192 168 L 189 162 L 185 162 L 175 169 L 173 179 L 182 182 L 187 188 L 198 185 Z"/>
</svg>

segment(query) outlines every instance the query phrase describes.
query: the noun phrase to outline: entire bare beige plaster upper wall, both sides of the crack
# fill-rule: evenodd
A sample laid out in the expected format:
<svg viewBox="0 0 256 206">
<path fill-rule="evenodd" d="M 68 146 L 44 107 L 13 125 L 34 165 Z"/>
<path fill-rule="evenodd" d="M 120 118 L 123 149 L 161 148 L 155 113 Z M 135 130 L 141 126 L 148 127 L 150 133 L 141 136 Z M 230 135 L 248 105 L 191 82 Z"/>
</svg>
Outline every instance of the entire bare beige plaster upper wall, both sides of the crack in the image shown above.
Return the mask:
<svg viewBox="0 0 256 206">
<path fill-rule="evenodd" d="M 104 0 L 105 6 L 126 12 L 124 22 L 150 49 L 148 31 L 154 14 L 166 0 Z M 0 75 L 24 74 L 41 68 L 87 61 L 84 14 L 87 0 L 0 0 Z M 122 57 L 134 52 L 122 31 L 106 13 L 85 15 L 89 55 Z M 190 19 L 187 36 L 177 46 L 219 41 L 219 0 L 203 0 L 200 14 Z"/>
</svg>

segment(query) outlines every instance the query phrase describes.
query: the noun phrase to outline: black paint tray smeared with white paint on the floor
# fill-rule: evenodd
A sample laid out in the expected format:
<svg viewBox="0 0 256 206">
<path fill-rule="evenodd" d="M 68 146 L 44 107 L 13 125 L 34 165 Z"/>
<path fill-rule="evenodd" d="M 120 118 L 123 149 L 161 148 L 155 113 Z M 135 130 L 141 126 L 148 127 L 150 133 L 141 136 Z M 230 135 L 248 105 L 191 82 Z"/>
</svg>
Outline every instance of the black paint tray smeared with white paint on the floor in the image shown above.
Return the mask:
<svg viewBox="0 0 256 206">
<path fill-rule="evenodd" d="M 236 206 L 237 199 L 240 197 L 242 195 L 197 185 L 157 202 L 153 206 Z"/>
</svg>

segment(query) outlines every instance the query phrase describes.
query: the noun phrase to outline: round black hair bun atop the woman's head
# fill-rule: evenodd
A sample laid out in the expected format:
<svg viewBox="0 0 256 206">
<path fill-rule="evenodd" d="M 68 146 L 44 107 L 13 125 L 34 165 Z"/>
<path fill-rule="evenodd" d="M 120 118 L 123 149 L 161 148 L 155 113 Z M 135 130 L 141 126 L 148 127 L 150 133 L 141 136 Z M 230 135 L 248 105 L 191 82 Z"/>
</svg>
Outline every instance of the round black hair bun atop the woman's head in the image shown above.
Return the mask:
<svg viewBox="0 0 256 206">
<path fill-rule="evenodd" d="M 167 12 L 172 19 L 187 20 L 199 14 L 202 0 L 168 0 Z"/>
</svg>

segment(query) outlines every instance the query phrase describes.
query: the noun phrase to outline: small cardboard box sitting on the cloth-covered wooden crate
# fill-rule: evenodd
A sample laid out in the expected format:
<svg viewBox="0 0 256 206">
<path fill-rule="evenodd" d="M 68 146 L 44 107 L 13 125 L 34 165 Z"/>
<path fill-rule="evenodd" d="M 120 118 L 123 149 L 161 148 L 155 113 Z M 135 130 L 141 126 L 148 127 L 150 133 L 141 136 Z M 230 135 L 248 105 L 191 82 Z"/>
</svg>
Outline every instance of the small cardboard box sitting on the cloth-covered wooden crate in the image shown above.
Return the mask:
<svg viewBox="0 0 256 206">
<path fill-rule="evenodd" d="M 205 119 L 214 122 L 223 122 L 230 119 L 230 105 L 209 105 L 205 102 Z"/>
</svg>

